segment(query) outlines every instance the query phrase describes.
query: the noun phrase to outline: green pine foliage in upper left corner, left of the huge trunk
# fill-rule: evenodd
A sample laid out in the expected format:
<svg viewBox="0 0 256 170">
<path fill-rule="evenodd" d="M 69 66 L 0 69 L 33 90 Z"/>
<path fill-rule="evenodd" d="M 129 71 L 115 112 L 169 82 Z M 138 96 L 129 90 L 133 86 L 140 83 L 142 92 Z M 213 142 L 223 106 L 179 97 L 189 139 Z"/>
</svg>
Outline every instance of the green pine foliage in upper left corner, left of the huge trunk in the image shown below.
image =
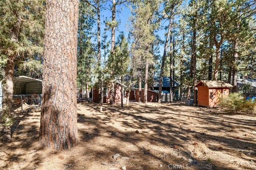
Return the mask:
<svg viewBox="0 0 256 170">
<path fill-rule="evenodd" d="M 19 68 L 15 70 L 16 75 L 21 74 L 20 68 L 22 75 L 42 74 L 45 6 L 44 0 L 0 1 L 0 79 L 4 77 L 7 57 L 13 54 Z M 18 20 L 21 21 L 19 37 L 18 42 L 14 42 L 11 41 L 12 29 Z M 38 74 L 31 75 L 33 71 Z"/>
</svg>

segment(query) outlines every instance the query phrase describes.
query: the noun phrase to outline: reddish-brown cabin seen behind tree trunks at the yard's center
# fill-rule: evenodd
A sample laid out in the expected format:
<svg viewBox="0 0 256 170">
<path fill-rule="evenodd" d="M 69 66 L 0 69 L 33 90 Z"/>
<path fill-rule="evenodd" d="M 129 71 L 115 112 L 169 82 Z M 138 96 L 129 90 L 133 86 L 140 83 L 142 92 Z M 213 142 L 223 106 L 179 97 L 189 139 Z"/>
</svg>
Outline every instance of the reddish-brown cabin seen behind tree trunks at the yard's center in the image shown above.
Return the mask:
<svg viewBox="0 0 256 170">
<path fill-rule="evenodd" d="M 124 88 L 124 87 L 123 87 Z M 105 85 L 103 88 L 103 103 L 110 103 L 110 85 Z M 116 104 L 121 104 L 121 99 L 122 99 L 122 93 L 123 93 L 123 102 L 126 103 L 127 100 L 127 94 L 128 91 L 124 90 L 121 92 L 121 84 L 120 83 L 115 83 L 115 91 L 114 91 L 114 98 L 115 98 L 115 103 Z M 93 89 L 93 94 L 92 94 L 92 101 L 95 103 L 100 103 L 100 91 L 98 88 L 94 87 Z M 135 100 L 135 94 L 134 90 L 130 91 L 130 96 L 129 100 Z"/>
</svg>

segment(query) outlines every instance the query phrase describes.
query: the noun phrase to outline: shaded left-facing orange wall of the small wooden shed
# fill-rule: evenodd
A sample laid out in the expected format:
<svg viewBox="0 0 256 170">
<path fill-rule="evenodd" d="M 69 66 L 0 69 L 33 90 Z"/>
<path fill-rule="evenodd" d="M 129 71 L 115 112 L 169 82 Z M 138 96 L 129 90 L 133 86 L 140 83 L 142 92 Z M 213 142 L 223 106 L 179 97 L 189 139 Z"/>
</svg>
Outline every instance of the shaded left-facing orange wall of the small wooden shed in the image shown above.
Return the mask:
<svg viewBox="0 0 256 170">
<path fill-rule="evenodd" d="M 207 86 L 198 86 L 198 105 L 205 107 L 209 105 L 209 89 Z"/>
</svg>

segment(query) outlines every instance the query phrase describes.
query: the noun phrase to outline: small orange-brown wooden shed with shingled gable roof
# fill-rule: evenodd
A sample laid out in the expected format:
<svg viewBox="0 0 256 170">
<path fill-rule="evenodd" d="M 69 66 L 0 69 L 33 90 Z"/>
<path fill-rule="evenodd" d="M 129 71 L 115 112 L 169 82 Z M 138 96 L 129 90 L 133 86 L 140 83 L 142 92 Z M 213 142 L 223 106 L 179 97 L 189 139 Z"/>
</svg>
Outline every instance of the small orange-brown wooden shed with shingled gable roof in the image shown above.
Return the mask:
<svg viewBox="0 0 256 170">
<path fill-rule="evenodd" d="M 229 83 L 221 80 L 201 80 L 197 83 L 198 105 L 216 107 L 220 103 L 220 97 L 229 95 Z"/>
</svg>

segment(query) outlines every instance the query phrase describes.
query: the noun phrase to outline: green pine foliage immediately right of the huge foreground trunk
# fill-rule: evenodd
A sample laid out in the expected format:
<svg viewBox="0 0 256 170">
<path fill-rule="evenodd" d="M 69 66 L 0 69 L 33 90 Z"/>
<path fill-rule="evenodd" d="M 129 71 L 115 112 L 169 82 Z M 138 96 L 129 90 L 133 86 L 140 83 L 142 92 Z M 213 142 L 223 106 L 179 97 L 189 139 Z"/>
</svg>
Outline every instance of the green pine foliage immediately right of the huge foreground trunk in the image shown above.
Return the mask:
<svg viewBox="0 0 256 170">
<path fill-rule="evenodd" d="M 79 3 L 78 14 L 78 51 L 77 51 L 77 87 L 86 89 L 91 85 L 94 73 L 96 49 L 91 39 L 94 36 L 94 8 L 87 3 Z"/>
</svg>

